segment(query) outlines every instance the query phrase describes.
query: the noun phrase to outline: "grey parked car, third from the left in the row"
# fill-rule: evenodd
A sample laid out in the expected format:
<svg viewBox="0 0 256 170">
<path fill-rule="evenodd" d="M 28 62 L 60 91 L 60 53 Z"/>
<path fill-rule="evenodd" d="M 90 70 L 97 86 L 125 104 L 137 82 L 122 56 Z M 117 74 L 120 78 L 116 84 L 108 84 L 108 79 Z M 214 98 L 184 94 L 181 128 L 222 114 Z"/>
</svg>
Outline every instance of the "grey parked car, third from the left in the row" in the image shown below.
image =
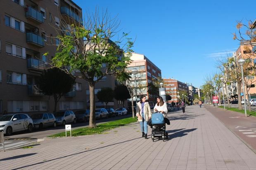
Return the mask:
<svg viewBox="0 0 256 170">
<path fill-rule="evenodd" d="M 59 125 L 66 125 L 66 123 L 76 124 L 76 115 L 71 110 L 56 112 L 54 116 L 56 123 Z"/>
</svg>

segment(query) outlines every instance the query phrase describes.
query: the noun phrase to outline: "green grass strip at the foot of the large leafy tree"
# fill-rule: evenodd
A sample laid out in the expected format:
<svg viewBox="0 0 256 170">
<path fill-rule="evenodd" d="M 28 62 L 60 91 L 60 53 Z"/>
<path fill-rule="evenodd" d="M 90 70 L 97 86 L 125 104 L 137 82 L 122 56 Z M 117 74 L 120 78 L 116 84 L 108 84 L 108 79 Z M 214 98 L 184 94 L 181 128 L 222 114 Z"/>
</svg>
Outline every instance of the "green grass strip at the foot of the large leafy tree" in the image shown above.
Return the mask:
<svg viewBox="0 0 256 170">
<path fill-rule="evenodd" d="M 71 130 L 71 133 L 72 133 L 72 136 L 102 134 L 102 132 L 104 132 L 106 130 L 111 130 L 113 128 L 117 128 L 119 126 L 124 126 L 126 124 L 133 123 L 136 121 L 137 121 L 136 118 L 129 117 L 126 119 L 120 119 L 120 120 L 111 121 L 108 123 L 102 123 L 100 125 L 97 125 L 96 128 L 86 127 L 86 128 L 79 128 L 79 129 Z M 67 132 L 67 135 L 70 135 L 70 133 Z M 50 135 L 48 137 L 65 137 L 65 136 L 66 136 L 66 133 L 61 132 L 61 133 L 57 133 L 55 135 Z"/>
</svg>

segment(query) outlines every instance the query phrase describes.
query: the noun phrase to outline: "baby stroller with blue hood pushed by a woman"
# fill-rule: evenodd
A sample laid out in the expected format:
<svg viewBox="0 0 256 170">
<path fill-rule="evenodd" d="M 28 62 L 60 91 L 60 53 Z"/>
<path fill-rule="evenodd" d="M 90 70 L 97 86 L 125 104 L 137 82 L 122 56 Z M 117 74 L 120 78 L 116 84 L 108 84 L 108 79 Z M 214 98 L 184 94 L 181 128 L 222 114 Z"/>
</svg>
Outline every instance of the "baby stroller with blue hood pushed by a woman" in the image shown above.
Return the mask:
<svg viewBox="0 0 256 170">
<path fill-rule="evenodd" d="M 156 137 L 162 138 L 163 141 L 166 139 L 168 140 L 168 132 L 165 130 L 165 122 L 164 122 L 164 116 L 160 112 L 156 112 L 152 114 L 151 118 L 152 123 L 152 141 L 154 142 L 154 139 Z"/>
</svg>

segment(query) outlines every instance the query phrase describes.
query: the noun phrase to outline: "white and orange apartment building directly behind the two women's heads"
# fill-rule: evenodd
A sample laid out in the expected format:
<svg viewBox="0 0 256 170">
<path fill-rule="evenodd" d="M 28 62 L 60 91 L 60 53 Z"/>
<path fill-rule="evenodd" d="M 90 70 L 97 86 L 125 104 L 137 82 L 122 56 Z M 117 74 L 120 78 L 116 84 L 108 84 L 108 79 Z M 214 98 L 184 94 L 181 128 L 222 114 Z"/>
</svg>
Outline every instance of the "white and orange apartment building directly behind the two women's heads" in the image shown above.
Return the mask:
<svg viewBox="0 0 256 170">
<path fill-rule="evenodd" d="M 161 78 L 161 70 L 144 54 L 132 53 L 130 59 L 132 62 L 127 67 L 128 71 L 138 70 L 136 75 L 131 75 L 132 81 L 130 83 L 135 84 L 136 76 L 136 85 L 140 86 L 140 88 L 137 88 L 137 95 L 146 95 L 147 100 L 153 105 L 156 102 L 156 95 L 150 94 L 148 85 L 154 83 L 158 77 Z M 137 98 L 137 100 L 140 99 Z"/>
</svg>

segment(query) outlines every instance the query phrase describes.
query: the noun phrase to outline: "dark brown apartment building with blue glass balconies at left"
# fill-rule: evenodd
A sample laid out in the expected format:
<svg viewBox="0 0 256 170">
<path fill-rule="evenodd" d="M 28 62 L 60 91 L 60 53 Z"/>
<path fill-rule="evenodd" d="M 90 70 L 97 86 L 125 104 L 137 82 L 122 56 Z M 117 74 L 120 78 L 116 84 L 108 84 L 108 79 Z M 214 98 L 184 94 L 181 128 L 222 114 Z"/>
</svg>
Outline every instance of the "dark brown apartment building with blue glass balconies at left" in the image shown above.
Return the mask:
<svg viewBox="0 0 256 170">
<path fill-rule="evenodd" d="M 38 77 L 55 56 L 60 34 L 56 28 L 81 23 L 82 9 L 72 0 L 0 3 L 0 113 L 52 112 L 53 98 L 36 90 Z M 83 109 L 85 101 L 85 80 L 76 78 L 74 89 L 60 99 L 57 110 Z"/>
</svg>

